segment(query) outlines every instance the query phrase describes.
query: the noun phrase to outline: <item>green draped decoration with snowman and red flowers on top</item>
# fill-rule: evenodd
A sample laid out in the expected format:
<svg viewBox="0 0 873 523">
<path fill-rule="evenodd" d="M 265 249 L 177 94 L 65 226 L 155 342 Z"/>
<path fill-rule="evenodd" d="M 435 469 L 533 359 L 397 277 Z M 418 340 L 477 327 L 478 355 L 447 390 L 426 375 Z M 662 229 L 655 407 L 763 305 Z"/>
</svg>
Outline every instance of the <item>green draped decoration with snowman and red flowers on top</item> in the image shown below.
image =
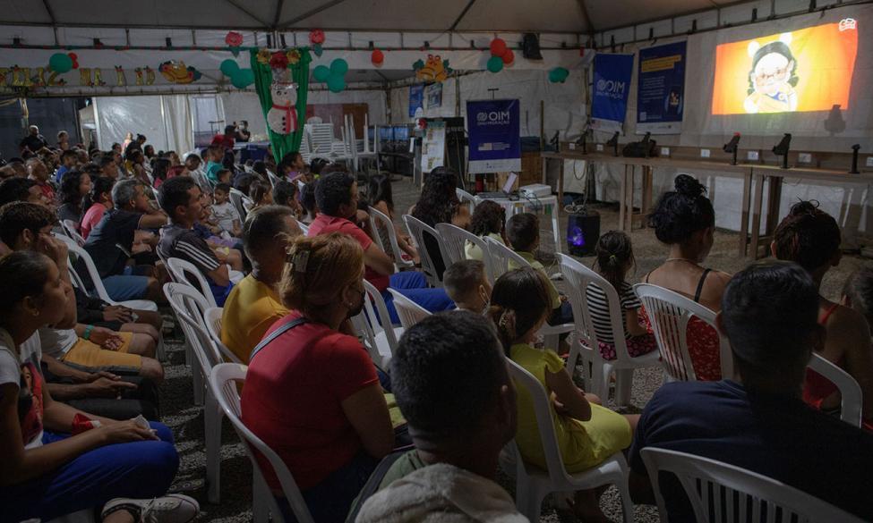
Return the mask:
<svg viewBox="0 0 873 523">
<path fill-rule="evenodd" d="M 288 49 L 281 52 L 282 60 L 269 49 L 249 51 L 251 69 L 239 70 L 232 78 L 252 74 L 261 110 L 267 122 L 267 131 L 273 148 L 273 156 L 282 158 L 298 150 L 303 138 L 306 100 L 309 91 L 309 64 L 312 55 L 308 48 Z M 271 60 L 272 59 L 272 60 Z M 273 67 L 273 66 L 278 67 Z M 325 68 L 327 69 L 327 68 Z M 330 76 L 330 70 L 328 70 Z"/>
</svg>

